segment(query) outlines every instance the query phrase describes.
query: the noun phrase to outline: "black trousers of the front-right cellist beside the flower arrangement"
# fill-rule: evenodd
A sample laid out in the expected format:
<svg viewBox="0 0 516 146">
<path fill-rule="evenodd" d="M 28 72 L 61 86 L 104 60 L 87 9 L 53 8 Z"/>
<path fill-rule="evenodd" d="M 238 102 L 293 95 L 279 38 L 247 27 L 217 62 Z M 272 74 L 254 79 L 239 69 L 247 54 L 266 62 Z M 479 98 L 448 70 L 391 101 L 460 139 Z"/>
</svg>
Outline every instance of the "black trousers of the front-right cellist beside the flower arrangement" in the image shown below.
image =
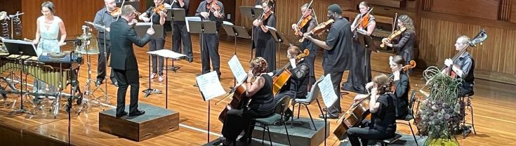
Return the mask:
<svg viewBox="0 0 516 146">
<path fill-rule="evenodd" d="M 396 128 L 378 128 L 370 126 L 371 121 L 364 120 L 360 127 L 352 127 L 348 129 L 347 134 L 352 146 L 366 146 L 369 139 L 381 140 L 383 138 L 392 138 L 395 135 Z M 360 138 L 360 140 L 359 140 Z"/>
</svg>

